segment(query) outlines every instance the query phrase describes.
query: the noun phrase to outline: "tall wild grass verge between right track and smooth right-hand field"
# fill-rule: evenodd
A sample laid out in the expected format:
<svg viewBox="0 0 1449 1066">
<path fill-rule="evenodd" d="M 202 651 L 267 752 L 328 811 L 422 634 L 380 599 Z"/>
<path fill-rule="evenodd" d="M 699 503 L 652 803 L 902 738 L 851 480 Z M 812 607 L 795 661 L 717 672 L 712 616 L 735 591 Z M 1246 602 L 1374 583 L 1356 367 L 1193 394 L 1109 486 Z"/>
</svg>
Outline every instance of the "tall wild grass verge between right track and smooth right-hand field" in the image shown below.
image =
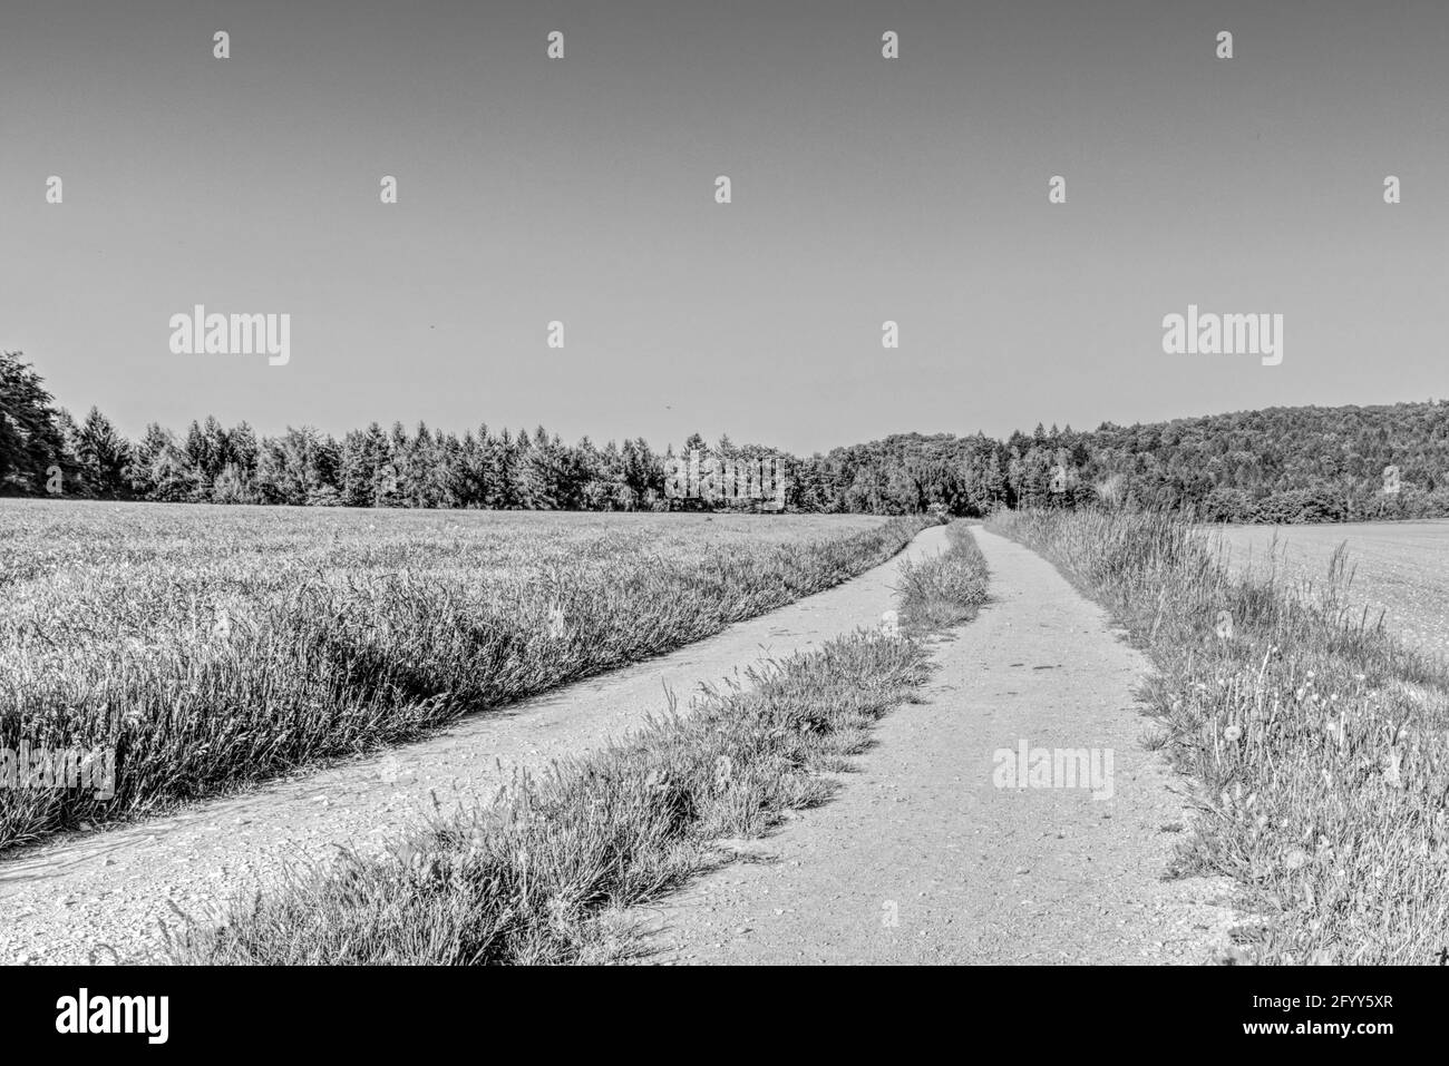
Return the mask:
<svg viewBox="0 0 1449 1066">
<path fill-rule="evenodd" d="M 1449 672 L 1343 603 L 1233 576 L 1153 514 L 991 523 L 1108 605 L 1156 673 L 1145 697 L 1203 817 L 1181 872 L 1235 878 L 1268 963 L 1436 963 L 1449 950 Z"/>
</svg>

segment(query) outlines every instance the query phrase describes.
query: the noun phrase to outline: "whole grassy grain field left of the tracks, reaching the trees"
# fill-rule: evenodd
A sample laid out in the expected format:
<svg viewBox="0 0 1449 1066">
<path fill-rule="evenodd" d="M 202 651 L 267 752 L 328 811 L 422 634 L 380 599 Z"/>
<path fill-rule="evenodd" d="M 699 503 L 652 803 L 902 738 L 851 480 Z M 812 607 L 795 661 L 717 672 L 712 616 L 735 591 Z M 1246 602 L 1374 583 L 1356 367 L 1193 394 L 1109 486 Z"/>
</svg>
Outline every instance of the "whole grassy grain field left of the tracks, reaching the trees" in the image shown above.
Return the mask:
<svg viewBox="0 0 1449 1066">
<path fill-rule="evenodd" d="M 374 750 L 835 585 L 924 519 L 0 507 L 0 850 Z M 864 526 L 864 527 L 862 527 Z"/>
</svg>

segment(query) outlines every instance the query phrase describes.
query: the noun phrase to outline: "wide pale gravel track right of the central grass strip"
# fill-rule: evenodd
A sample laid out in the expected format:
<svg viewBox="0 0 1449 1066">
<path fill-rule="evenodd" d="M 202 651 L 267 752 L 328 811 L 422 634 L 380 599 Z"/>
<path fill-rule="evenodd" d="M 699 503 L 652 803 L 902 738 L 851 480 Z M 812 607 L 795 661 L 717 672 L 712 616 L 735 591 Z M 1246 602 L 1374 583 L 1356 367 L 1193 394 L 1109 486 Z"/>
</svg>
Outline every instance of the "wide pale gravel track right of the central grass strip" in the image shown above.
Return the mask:
<svg viewBox="0 0 1449 1066">
<path fill-rule="evenodd" d="M 1145 659 L 1045 561 L 975 530 L 980 617 L 936 647 L 926 702 L 826 807 L 640 912 L 665 963 L 1171 963 L 1220 956 L 1229 882 L 1161 879 L 1179 784 L 1140 743 Z M 994 753 L 1113 753 L 1090 788 L 997 788 Z M 1033 759 L 1027 757 L 1030 766 Z M 1106 759 L 1098 766 L 1106 771 Z M 1011 778 L 1014 781 L 1014 776 Z"/>
</svg>

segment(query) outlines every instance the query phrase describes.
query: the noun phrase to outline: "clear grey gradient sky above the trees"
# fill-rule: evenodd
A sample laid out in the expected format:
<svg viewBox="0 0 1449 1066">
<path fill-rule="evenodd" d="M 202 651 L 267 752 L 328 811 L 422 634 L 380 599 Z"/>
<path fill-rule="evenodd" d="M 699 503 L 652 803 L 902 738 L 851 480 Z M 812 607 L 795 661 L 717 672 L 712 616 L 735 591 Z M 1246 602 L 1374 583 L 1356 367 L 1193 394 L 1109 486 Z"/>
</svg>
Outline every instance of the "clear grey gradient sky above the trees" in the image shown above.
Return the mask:
<svg viewBox="0 0 1449 1066">
<path fill-rule="evenodd" d="M 1446 193 L 1442 0 L 0 6 L 0 348 L 130 435 L 811 452 L 1449 395 Z M 291 314 L 290 364 L 174 355 L 197 303 Z M 1190 303 L 1281 313 L 1282 364 L 1165 355 Z"/>
</svg>

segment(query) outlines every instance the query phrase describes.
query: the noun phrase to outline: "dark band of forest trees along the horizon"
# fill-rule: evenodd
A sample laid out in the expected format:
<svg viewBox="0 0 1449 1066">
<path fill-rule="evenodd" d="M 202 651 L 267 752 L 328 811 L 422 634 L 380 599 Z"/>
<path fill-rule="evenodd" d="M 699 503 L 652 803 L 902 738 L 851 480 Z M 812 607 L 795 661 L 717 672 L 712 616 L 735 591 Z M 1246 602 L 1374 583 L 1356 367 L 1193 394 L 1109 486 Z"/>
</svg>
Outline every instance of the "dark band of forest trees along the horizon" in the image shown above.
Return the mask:
<svg viewBox="0 0 1449 1066">
<path fill-rule="evenodd" d="M 643 439 L 569 445 L 542 426 L 461 436 L 372 423 L 341 440 L 312 427 L 259 436 L 214 417 L 128 440 L 96 407 L 77 421 L 19 353 L 0 355 L 0 494 L 309 507 L 497 510 L 751 508 L 665 492 L 667 462 L 698 452 L 780 459 L 793 511 L 982 516 L 1084 504 L 1190 511 L 1208 521 L 1449 516 L 1449 406 L 1274 407 L 1091 432 L 1040 424 L 901 433 L 791 456 L 698 435 L 661 453 Z"/>
</svg>

